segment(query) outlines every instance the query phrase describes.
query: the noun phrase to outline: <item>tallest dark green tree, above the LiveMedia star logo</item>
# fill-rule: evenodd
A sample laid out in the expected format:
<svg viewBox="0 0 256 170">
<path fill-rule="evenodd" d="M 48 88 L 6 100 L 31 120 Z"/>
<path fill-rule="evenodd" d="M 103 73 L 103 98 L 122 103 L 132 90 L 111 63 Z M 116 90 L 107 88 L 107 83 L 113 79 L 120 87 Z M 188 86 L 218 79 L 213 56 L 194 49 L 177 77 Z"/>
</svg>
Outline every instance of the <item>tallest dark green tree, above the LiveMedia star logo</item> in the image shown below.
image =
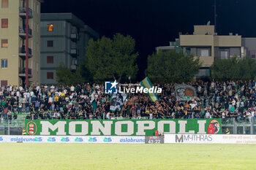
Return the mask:
<svg viewBox="0 0 256 170">
<path fill-rule="evenodd" d="M 94 82 L 127 80 L 129 76 L 136 77 L 137 57 L 135 39 L 131 36 L 115 34 L 113 39 L 103 36 L 97 41 L 89 41 L 86 47 L 86 68 L 93 75 Z"/>
</svg>

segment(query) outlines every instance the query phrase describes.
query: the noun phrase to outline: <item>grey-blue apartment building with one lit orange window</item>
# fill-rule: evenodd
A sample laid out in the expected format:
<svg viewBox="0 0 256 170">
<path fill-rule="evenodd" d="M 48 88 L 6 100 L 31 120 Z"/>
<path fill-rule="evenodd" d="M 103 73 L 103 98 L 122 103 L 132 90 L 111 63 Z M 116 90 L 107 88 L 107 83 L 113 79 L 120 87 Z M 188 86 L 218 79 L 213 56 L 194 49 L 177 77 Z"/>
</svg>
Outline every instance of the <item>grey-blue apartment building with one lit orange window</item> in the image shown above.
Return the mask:
<svg viewBox="0 0 256 170">
<path fill-rule="evenodd" d="M 56 68 L 64 63 L 75 72 L 84 62 L 89 39 L 99 34 L 72 13 L 41 14 L 41 84 L 56 84 Z"/>
</svg>

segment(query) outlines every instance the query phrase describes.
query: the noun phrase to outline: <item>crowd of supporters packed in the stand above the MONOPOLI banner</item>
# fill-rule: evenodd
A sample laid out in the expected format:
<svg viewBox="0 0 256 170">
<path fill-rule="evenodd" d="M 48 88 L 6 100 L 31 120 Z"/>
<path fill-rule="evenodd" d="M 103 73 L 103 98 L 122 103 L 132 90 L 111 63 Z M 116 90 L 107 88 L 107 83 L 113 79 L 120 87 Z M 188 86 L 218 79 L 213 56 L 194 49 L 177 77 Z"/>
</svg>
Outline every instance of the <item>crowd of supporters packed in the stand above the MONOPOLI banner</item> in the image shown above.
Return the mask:
<svg viewBox="0 0 256 170">
<path fill-rule="evenodd" d="M 7 86 L 0 88 L 0 114 L 4 119 L 191 119 L 236 117 L 252 120 L 256 109 L 256 83 L 194 82 L 196 90 L 191 101 L 176 101 L 174 84 L 157 85 L 162 93 L 151 101 L 144 93 L 129 93 L 121 110 L 110 111 L 110 95 L 104 85 L 85 83 L 76 86 L 42 85 L 29 88 Z M 97 110 L 91 104 L 91 89 L 96 92 Z"/>
</svg>

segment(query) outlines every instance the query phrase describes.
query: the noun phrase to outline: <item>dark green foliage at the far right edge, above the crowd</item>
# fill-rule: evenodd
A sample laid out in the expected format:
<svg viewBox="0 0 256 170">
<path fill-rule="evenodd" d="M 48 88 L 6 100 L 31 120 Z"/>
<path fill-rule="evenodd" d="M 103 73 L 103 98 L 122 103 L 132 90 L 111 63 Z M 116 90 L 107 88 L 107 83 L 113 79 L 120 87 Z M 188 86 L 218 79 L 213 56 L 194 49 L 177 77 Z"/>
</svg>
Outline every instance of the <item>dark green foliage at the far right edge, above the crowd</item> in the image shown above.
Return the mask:
<svg viewBox="0 0 256 170">
<path fill-rule="evenodd" d="M 217 59 L 211 66 L 214 80 L 252 80 L 256 75 L 256 61 L 252 58 Z"/>
</svg>

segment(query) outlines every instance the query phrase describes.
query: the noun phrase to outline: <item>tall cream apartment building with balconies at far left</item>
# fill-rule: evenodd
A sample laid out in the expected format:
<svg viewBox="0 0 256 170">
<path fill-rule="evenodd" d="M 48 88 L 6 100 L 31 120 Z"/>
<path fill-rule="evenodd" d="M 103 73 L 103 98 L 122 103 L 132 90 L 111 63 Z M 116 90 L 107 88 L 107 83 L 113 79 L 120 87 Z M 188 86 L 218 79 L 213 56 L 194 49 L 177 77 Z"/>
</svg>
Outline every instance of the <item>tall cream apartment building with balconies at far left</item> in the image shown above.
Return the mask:
<svg viewBox="0 0 256 170">
<path fill-rule="evenodd" d="M 25 85 L 26 74 L 29 84 L 40 84 L 41 2 L 42 0 L 0 0 L 1 86 Z"/>
</svg>

